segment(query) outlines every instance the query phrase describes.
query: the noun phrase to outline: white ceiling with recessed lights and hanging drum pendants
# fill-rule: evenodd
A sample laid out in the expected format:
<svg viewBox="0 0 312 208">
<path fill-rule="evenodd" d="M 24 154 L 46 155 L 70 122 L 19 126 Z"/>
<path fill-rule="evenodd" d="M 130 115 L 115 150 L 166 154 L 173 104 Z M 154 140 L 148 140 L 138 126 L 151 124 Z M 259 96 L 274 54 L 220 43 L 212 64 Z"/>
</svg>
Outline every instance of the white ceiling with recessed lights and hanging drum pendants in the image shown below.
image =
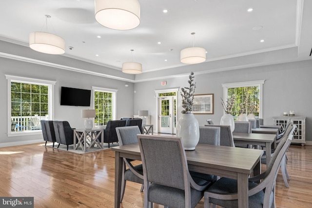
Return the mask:
<svg viewBox="0 0 312 208">
<path fill-rule="evenodd" d="M 117 31 L 95 20 L 94 0 L 1 0 L 0 39 L 28 45 L 31 32 L 54 33 L 65 40 L 64 56 L 117 70 L 121 70 L 122 62 L 132 61 L 133 49 L 133 61 L 142 63 L 143 73 L 186 65 L 180 62 L 180 50 L 193 46 L 192 32 L 195 46 L 208 52 L 206 62 L 293 47 L 298 48 L 298 58 L 301 54 L 301 59 L 309 58 L 310 0 L 139 0 L 139 3 L 140 25 L 133 30 Z M 248 8 L 254 11 L 248 12 Z M 168 13 L 163 13 L 164 9 Z M 48 30 L 45 15 L 51 16 Z M 262 29 L 253 30 L 256 26 Z"/>
</svg>

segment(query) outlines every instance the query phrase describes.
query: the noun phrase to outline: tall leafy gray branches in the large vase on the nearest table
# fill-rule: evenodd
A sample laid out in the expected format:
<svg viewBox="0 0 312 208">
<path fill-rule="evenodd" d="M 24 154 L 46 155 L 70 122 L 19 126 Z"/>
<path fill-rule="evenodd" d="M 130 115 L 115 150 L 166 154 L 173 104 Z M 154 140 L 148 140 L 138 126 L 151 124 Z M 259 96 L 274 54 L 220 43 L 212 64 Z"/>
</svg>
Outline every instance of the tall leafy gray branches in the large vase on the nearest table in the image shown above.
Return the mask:
<svg viewBox="0 0 312 208">
<path fill-rule="evenodd" d="M 189 75 L 188 83 L 190 84 L 189 87 L 181 87 L 181 96 L 182 96 L 182 107 L 184 108 L 181 113 L 191 113 L 193 107 L 193 99 L 194 93 L 196 88 L 196 82 L 194 83 L 194 72 L 191 72 Z M 183 93 L 183 94 L 182 94 Z"/>
</svg>

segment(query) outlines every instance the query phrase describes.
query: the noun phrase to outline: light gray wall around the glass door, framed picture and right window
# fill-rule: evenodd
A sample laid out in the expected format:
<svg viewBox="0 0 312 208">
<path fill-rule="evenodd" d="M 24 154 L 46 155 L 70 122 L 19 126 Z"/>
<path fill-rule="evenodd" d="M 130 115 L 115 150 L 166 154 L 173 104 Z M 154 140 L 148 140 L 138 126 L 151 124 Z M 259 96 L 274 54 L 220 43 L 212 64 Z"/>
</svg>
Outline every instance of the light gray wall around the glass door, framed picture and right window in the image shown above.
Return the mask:
<svg viewBox="0 0 312 208">
<path fill-rule="evenodd" d="M 194 69 L 196 66 L 193 65 Z M 168 69 L 170 70 L 170 69 Z M 197 69 L 198 70 L 198 69 Z M 263 85 L 263 118 L 265 124 L 273 124 L 273 116 L 280 116 L 284 111 L 295 110 L 298 116 L 306 116 L 306 140 L 312 141 L 311 103 L 312 97 L 312 60 L 275 64 L 254 68 L 216 72 L 209 74 L 195 73 L 195 94 L 214 94 L 214 114 L 195 114 L 199 125 L 205 125 L 206 119 L 220 122 L 223 109 L 220 97 L 223 97 L 223 83 L 253 81 L 265 79 Z M 187 86 L 187 76 L 141 82 L 135 85 L 135 111 L 149 110 L 152 124 L 156 125 L 155 90 Z M 167 81 L 161 86 L 161 81 Z M 178 96 L 178 112 L 181 111 L 181 98 Z"/>
</svg>

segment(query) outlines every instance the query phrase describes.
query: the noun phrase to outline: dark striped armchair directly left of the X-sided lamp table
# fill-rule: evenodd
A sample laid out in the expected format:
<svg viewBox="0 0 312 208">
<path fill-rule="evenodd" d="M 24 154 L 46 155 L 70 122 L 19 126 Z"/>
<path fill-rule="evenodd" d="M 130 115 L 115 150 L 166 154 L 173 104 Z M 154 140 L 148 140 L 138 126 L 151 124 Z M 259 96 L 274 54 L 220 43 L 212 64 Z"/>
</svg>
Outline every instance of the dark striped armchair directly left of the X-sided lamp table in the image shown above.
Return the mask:
<svg viewBox="0 0 312 208">
<path fill-rule="evenodd" d="M 57 142 L 62 145 L 74 144 L 74 129 L 72 129 L 68 121 L 53 121 L 55 138 Z M 58 145 L 58 148 L 59 148 Z"/>
</svg>

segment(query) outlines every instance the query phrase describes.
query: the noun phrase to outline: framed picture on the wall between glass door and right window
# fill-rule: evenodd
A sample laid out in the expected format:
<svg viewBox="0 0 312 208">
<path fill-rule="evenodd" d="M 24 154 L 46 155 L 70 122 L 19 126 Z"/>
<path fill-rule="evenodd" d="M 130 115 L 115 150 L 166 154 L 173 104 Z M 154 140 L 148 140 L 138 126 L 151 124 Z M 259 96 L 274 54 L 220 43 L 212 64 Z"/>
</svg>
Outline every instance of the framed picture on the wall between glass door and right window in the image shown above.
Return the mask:
<svg viewBox="0 0 312 208">
<path fill-rule="evenodd" d="M 214 114 L 214 94 L 194 95 L 194 114 Z"/>
</svg>

